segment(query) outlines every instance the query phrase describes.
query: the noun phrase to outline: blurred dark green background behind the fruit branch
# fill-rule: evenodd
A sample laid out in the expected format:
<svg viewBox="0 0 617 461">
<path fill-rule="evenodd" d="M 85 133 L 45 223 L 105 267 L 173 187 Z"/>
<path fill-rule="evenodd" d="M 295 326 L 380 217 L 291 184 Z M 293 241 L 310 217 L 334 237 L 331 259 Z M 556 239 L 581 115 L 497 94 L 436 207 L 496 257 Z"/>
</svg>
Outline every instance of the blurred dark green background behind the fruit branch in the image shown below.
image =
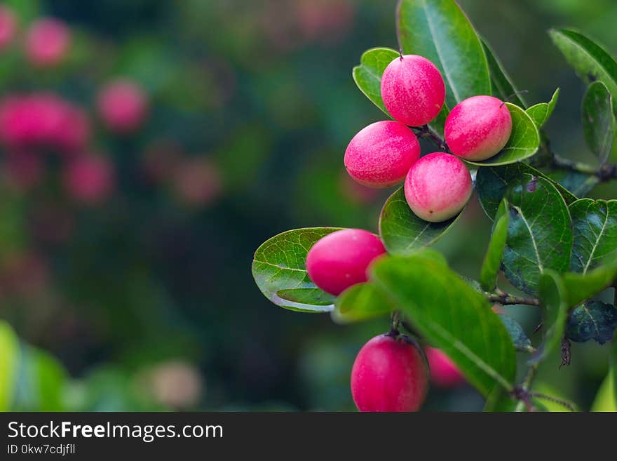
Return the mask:
<svg viewBox="0 0 617 461">
<path fill-rule="evenodd" d="M 11 326 L 0 324 L 0 410 L 353 410 L 353 359 L 388 319 L 338 326 L 279 309 L 250 263 L 287 229 L 377 230 L 388 191 L 353 184 L 342 159 L 353 135 L 383 118 L 351 68 L 367 48 L 397 48 L 395 0 L 2 4 L 18 27 L 0 51 L 1 97 L 45 91 L 82 107 L 88 152 L 111 162 L 115 180 L 84 203 L 62 187 L 61 155 L 44 153 L 40 178 L 24 184 L 0 146 L 0 318 Z M 460 4 L 527 100 L 562 88 L 547 131 L 562 156 L 592 162 L 583 83 L 546 30 L 577 27 L 616 53 L 617 3 Z M 67 56 L 45 68 L 23 51 L 42 16 L 72 35 Z M 121 135 L 96 102 L 118 77 L 149 100 L 140 128 Z M 437 248 L 477 277 L 489 232 L 473 201 Z M 508 312 L 529 334 L 538 323 L 530 307 Z M 538 390 L 588 409 L 606 356 L 574 344 L 571 366 L 545 362 Z M 432 389 L 425 408 L 477 410 L 482 399 L 468 386 Z"/>
</svg>

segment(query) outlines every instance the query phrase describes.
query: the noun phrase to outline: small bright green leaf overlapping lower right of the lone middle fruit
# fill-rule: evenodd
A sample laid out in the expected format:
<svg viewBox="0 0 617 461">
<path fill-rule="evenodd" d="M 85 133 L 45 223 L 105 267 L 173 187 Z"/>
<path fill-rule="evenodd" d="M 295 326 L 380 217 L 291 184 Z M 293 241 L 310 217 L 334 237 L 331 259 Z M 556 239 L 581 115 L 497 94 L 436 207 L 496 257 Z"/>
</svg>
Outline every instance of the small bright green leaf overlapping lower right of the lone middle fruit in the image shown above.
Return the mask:
<svg viewBox="0 0 617 461">
<path fill-rule="evenodd" d="M 358 283 L 341 293 L 332 318 L 339 323 L 351 323 L 389 314 L 395 308 L 388 294 L 374 283 Z"/>
</svg>

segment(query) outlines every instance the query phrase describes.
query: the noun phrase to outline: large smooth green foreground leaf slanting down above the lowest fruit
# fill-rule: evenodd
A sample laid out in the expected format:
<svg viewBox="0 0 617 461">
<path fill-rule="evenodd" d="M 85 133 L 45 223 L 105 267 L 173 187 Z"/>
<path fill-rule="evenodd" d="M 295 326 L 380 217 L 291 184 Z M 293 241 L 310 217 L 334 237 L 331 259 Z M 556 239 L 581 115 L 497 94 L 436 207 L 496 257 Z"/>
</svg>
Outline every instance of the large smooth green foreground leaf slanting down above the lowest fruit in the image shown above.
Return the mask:
<svg viewBox="0 0 617 461">
<path fill-rule="evenodd" d="M 371 269 L 372 281 L 484 396 L 496 385 L 511 390 L 515 349 L 503 323 L 484 296 L 423 253 L 377 260 Z"/>
</svg>

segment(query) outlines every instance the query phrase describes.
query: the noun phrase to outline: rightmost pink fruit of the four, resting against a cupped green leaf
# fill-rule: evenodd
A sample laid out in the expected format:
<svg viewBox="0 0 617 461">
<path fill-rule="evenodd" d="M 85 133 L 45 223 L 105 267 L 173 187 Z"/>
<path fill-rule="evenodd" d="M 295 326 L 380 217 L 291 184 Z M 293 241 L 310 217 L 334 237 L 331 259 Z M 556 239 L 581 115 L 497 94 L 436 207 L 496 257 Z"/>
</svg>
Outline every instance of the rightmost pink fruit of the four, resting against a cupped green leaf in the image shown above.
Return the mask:
<svg viewBox="0 0 617 461">
<path fill-rule="evenodd" d="M 472 161 L 486 160 L 510 139 L 512 116 L 503 101 L 492 96 L 473 96 L 452 109 L 444 131 L 453 154 Z"/>
</svg>

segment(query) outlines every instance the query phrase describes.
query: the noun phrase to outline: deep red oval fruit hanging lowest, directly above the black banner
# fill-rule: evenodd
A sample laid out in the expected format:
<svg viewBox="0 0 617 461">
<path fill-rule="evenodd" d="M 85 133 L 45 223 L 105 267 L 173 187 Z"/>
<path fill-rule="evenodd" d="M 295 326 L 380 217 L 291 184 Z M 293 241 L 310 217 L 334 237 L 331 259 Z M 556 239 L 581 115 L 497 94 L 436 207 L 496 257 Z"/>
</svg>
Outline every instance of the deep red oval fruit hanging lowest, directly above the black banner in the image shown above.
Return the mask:
<svg viewBox="0 0 617 461">
<path fill-rule="evenodd" d="M 417 411 L 428 391 L 428 366 L 406 336 L 367 342 L 351 370 L 351 394 L 360 411 Z"/>
</svg>

